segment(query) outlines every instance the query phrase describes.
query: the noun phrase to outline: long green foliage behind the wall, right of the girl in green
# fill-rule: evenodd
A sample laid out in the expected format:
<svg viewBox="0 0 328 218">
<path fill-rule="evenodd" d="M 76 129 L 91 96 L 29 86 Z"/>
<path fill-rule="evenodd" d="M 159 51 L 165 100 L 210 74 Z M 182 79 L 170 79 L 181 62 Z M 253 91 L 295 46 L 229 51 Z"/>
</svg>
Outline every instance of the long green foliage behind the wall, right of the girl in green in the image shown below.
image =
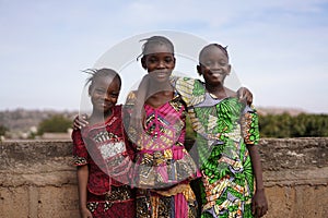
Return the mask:
<svg viewBox="0 0 328 218">
<path fill-rule="evenodd" d="M 328 114 L 259 116 L 261 137 L 326 137 L 328 136 Z"/>
</svg>

